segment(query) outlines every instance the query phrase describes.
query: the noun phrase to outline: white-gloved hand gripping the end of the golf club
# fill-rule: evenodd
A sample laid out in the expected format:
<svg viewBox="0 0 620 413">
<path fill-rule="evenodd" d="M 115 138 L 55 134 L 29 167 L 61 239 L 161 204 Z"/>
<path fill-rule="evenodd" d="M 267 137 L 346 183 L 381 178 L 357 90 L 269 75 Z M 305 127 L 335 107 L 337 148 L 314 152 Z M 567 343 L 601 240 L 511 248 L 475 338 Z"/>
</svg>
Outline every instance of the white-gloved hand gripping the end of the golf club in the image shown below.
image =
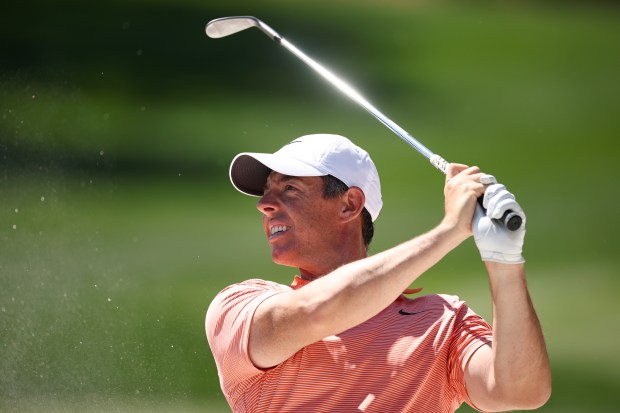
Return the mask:
<svg viewBox="0 0 620 413">
<path fill-rule="evenodd" d="M 474 240 L 480 251 L 483 261 L 496 261 L 505 264 L 519 264 L 525 262 L 521 255 L 525 238 L 525 214 L 515 200 L 513 194 L 506 190 L 504 185 L 496 183 L 491 175 L 484 176 L 482 183 L 491 183 L 484 193 L 483 206 L 476 208 L 472 222 Z M 494 219 L 501 218 L 507 210 L 519 212 L 523 217 L 521 227 L 510 231 Z"/>
</svg>

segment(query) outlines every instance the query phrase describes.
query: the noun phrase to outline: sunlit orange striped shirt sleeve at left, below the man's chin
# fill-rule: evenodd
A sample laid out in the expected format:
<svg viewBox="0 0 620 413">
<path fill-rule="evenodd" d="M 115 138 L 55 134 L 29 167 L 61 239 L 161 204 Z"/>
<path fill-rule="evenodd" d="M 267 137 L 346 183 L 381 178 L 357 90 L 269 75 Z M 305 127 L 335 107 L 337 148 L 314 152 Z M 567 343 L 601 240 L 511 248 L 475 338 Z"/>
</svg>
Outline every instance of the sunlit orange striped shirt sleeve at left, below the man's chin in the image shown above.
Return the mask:
<svg viewBox="0 0 620 413">
<path fill-rule="evenodd" d="M 248 354 L 250 324 L 258 306 L 286 288 L 249 280 L 225 288 L 209 305 L 205 330 L 225 394 L 242 392 L 250 379 L 262 373 Z"/>
</svg>

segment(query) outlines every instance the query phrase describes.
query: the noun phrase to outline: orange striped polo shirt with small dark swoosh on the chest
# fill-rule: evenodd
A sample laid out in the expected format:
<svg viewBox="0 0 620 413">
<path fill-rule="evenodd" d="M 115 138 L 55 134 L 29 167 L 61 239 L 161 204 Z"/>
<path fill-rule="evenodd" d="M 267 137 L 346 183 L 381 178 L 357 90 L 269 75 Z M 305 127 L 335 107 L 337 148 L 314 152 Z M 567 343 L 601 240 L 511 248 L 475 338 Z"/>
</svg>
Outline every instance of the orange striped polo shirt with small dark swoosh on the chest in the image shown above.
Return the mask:
<svg viewBox="0 0 620 413">
<path fill-rule="evenodd" d="M 267 298 L 291 288 L 248 280 L 222 290 L 205 321 L 220 385 L 233 412 L 454 412 L 472 407 L 463 371 L 491 343 L 491 327 L 456 296 L 401 295 L 379 314 L 256 368 L 250 323 Z"/>
</svg>

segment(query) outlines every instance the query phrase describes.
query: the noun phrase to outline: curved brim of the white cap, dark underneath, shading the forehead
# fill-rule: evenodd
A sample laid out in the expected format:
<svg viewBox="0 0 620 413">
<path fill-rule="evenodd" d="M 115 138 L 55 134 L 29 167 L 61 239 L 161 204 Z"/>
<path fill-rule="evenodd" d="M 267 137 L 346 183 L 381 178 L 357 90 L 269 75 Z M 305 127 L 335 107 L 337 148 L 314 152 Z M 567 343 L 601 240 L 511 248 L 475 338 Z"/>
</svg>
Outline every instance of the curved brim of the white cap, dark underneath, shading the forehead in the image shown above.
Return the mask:
<svg viewBox="0 0 620 413">
<path fill-rule="evenodd" d="M 244 152 L 230 164 L 230 181 L 247 195 L 261 196 L 271 171 L 290 176 L 323 176 L 326 173 L 295 158 L 271 153 Z"/>
</svg>

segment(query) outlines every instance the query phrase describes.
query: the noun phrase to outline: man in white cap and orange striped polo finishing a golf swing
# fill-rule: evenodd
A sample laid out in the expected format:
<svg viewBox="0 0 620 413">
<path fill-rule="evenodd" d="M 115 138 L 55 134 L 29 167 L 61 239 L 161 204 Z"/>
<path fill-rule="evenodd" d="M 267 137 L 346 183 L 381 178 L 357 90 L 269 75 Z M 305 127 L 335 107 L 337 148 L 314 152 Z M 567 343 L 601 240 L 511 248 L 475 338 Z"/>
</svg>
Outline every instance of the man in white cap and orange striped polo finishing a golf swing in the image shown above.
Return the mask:
<svg viewBox="0 0 620 413">
<path fill-rule="evenodd" d="M 371 256 L 381 187 L 368 153 L 350 140 L 308 135 L 273 154 L 242 153 L 230 178 L 260 197 L 273 261 L 298 270 L 291 285 L 229 286 L 207 310 L 234 412 L 433 413 L 463 402 L 494 412 L 547 401 L 549 360 L 521 255 L 525 225 L 511 232 L 492 219 L 523 211 L 491 175 L 451 164 L 441 222 Z M 481 196 L 486 213 L 476 206 Z M 490 280 L 492 328 L 456 296 L 408 289 L 472 235 Z"/>
</svg>

